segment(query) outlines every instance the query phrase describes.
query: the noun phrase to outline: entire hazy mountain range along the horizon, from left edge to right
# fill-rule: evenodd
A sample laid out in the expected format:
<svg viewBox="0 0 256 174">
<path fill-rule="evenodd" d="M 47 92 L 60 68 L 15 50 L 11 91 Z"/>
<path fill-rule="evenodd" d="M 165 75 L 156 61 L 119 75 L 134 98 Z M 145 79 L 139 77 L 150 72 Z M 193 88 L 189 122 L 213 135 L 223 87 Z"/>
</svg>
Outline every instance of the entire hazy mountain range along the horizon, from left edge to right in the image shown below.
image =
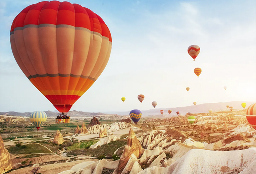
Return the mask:
<svg viewBox="0 0 256 174">
<path fill-rule="evenodd" d="M 209 109 L 212 109 L 212 111 L 219 111 L 219 110 L 226 110 L 229 111 L 229 109 L 226 108 L 226 105 L 229 106 L 233 106 L 234 109 L 243 109 L 243 107 L 241 106 L 241 104 L 244 101 L 231 101 L 231 102 L 221 102 L 221 103 L 204 103 L 204 104 L 197 104 L 192 105 L 192 106 L 184 106 L 184 107 L 170 107 L 170 108 L 155 108 L 155 109 L 150 109 L 150 110 L 142 110 L 142 115 L 143 116 L 150 116 L 150 115 L 161 115 L 160 114 L 160 110 L 163 109 L 164 113 L 163 115 L 175 115 L 176 116 L 176 111 L 179 111 L 182 115 L 185 115 L 187 112 L 191 112 L 191 113 L 208 113 Z M 248 108 L 251 104 L 255 103 L 255 102 L 250 102 L 247 101 L 245 102 L 247 103 L 246 108 Z M 169 113 L 167 112 L 168 110 L 172 110 L 172 113 L 169 115 Z M 45 111 L 45 113 L 47 114 L 47 116 L 57 116 L 58 115 L 58 111 Z M 125 111 L 125 112 L 112 112 L 112 113 L 101 113 L 101 112 L 83 112 L 83 111 L 76 111 L 76 110 L 72 110 L 69 111 L 67 114 L 71 117 L 93 117 L 93 116 L 97 116 L 97 115 L 129 115 L 130 111 Z M 30 116 L 31 112 L 14 112 L 14 111 L 10 111 L 10 112 L 0 112 L 0 115 L 15 115 L 15 116 Z"/>
</svg>

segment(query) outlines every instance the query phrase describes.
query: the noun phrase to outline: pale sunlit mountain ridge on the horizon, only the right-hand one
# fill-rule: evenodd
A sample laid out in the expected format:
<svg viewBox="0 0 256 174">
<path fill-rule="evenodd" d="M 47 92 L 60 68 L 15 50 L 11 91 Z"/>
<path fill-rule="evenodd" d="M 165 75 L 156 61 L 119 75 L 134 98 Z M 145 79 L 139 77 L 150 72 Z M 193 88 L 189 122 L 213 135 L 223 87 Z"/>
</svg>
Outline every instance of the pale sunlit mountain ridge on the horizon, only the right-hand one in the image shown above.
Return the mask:
<svg viewBox="0 0 256 174">
<path fill-rule="evenodd" d="M 241 104 L 245 101 L 231 101 L 231 102 L 221 102 L 221 103 L 204 103 L 204 104 L 197 104 L 192 106 L 184 106 L 184 107 L 169 107 L 169 108 L 153 108 L 150 110 L 141 110 L 143 116 L 150 116 L 150 115 L 161 115 L 160 110 L 163 109 L 164 113 L 163 115 L 169 115 L 168 110 L 171 110 L 171 115 L 177 115 L 176 112 L 179 111 L 182 115 L 186 115 L 186 113 L 208 113 L 209 109 L 212 109 L 212 111 L 219 111 L 219 110 L 226 110 L 226 105 L 233 106 L 234 109 L 243 109 Z M 251 104 L 255 102 L 247 101 L 245 102 L 247 105 L 245 108 L 248 108 Z M 153 107 L 153 106 L 152 106 Z M 156 106 L 157 107 L 157 106 Z M 113 114 L 117 115 L 129 115 L 130 111 L 125 112 L 113 112 Z"/>
</svg>

